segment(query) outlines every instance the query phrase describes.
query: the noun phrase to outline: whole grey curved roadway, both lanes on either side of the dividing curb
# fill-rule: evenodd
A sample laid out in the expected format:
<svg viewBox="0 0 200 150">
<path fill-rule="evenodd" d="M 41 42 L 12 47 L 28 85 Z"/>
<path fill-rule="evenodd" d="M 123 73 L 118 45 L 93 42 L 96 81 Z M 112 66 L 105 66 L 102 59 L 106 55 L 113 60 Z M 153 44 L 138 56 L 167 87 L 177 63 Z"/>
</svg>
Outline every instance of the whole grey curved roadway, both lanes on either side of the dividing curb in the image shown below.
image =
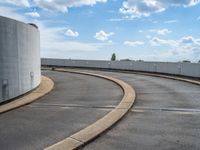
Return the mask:
<svg viewBox="0 0 200 150">
<path fill-rule="evenodd" d="M 165 78 L 92 71 L 119 78 L 137 93 L 132 110 L 84 150 L 200 148 L 200 86 Z M 41 149 L 104 116 L 122 98 L 114 83 L 85 75 L 44 72 L 55 90 L 0 115 L 1 149 Z"/>
</svg>

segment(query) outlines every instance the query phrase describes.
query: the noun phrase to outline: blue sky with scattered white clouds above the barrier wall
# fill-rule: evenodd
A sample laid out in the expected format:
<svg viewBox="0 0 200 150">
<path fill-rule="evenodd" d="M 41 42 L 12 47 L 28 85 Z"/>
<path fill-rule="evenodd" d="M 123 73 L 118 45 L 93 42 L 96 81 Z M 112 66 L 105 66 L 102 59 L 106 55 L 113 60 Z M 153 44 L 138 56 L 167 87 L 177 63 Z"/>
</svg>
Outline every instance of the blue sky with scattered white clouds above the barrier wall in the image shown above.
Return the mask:
<svg viewBox="0 0 200 150">
<path fill-rule="evenodd" d="M 0 0 L 40 28 L 41 57 L 200 60 L 200 0 Z"/>
</svg>

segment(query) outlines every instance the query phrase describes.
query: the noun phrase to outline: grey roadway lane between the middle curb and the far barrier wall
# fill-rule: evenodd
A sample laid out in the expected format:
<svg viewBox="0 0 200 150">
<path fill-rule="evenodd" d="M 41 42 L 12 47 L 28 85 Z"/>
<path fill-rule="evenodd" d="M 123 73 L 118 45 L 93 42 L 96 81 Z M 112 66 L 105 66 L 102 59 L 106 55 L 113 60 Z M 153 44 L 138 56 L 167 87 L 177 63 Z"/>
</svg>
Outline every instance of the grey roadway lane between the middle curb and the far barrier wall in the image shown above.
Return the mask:
<svg viewBox="0 0 200 150">
<path fill-rule="evenodd" d="M 200 86 L 143 75 L 97 72 L 133 85 L 132 111 L 84 150 L 200 148 Z"/>
</svg>

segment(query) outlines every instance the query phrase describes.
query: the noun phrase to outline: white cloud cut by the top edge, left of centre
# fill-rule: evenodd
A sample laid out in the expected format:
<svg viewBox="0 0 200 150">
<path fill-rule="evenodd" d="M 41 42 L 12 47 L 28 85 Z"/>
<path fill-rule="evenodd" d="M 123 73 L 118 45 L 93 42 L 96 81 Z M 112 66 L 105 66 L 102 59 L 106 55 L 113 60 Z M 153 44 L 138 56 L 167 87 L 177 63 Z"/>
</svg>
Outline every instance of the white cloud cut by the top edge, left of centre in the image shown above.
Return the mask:
<svg viewBox="0 0 200 150">
<path fill-rule="evenodd" d="M 67 12 L 68 8 L 83 5 L 93 6 L 96 3 L 105 3 L 107 0 L 33 0 L 38 7 L 46 10 Z"/>
</svg>

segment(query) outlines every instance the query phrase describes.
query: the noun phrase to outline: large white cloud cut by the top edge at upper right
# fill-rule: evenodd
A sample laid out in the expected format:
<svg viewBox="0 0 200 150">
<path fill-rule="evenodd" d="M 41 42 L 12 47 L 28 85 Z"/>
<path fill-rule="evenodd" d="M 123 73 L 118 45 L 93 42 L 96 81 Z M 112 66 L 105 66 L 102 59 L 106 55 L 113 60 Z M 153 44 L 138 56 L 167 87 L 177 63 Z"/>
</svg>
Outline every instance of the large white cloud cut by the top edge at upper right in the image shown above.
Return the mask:
<svg viewBox="0 0 200 150">
<path fill-rule="evenodd" d="M 189 7 L 199 2 L 200 0 L 126 0 L 122 4 L 120 12 L 131 18 L 136 18 L 165 11 L 172 6 Z"/>
</svg>

